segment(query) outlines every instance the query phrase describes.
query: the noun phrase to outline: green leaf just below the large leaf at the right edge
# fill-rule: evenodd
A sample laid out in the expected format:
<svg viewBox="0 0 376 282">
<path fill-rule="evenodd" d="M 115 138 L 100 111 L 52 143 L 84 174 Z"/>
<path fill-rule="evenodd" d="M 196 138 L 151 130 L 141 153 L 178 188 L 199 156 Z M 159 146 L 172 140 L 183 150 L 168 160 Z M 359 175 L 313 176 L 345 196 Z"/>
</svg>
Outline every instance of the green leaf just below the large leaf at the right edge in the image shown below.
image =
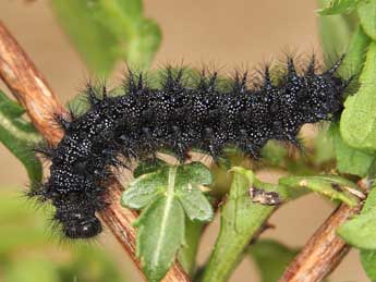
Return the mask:
<svg viewBox="0 0 376 282">
<path fill-rule="evenodd" d="M 335 146 L 337 170 L 341 173 L 355 174 L 361 177 L 367 175 L 375 157 L 347 145 L 339 133 L 337 124 L 331 125 L 330 137 Z"/>
</svg>

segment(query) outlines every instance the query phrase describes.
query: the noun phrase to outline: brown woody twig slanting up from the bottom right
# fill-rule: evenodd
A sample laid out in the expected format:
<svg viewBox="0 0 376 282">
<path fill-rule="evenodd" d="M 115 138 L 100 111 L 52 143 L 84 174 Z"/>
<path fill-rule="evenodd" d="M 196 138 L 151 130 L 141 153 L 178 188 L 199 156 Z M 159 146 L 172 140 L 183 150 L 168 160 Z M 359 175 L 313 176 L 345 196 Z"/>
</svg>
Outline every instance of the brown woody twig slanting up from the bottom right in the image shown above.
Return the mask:
<svg viewBox="0 0 376 282">
<path fill-rule="evenodd" d="M 350 250 L 350 246 L 336 234 L 336 230 L 360 209 L 360 206 L 350 208 L 344 204 L 340 205 L 288 266 L 279 282 L 322 281 L 336 269 Z"/>
</svg>

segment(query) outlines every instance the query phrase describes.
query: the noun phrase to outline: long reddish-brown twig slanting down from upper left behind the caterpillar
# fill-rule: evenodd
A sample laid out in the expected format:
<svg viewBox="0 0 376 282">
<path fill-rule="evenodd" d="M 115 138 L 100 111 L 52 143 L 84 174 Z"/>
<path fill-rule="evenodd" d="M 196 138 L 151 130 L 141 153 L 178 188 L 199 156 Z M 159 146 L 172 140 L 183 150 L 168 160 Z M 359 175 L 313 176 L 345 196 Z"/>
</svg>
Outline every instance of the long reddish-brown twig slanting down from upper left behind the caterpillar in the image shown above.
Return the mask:
<svg viewBox="0 0 376 282">
<path fill-rule="evenodd" d="M 35 127 L 50 143 L 57 144 L 62 132 L 53 126 L 52 115 L 64 114 L 65 110 L 57 96 L 47 84 L 45 77 L 38 72 L 34 63 L 27 58 L 16 40 L 0 21 L 0 77 L 9 89 L 24 106 Z M 107 224 L 121 246 L 131 256 L 138 269 L 140 261 L 135 255 L 136 231 L 132 223 L 137 218 L 135 211 L 120 206 L 122 186 L 119 182 L 111 183 L 112 204 L 100 212 L 102 221 Z M 142 272 L 142 271 L 141 271 Z M 165 282 L 189 282 L 178 262 L 166 274 Z"/>
</svg>

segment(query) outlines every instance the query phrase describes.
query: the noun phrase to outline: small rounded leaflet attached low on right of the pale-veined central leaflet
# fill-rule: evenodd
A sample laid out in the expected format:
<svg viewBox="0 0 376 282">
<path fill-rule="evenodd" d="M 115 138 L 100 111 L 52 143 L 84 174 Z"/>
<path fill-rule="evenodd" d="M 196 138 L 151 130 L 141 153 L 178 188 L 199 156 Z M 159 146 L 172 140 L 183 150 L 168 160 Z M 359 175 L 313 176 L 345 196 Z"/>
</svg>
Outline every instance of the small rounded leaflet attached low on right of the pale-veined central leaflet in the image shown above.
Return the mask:
<svg viewBox="0 0 376 282">
<path fill-rule="evenodd" d="M 189 185 L 187 187 L 180 189 L 177 196 L 183 205 L 186 216 L 191 220 L 203 222 L 213 220 L 213 206 L 199 189 Z"/>
</svg>

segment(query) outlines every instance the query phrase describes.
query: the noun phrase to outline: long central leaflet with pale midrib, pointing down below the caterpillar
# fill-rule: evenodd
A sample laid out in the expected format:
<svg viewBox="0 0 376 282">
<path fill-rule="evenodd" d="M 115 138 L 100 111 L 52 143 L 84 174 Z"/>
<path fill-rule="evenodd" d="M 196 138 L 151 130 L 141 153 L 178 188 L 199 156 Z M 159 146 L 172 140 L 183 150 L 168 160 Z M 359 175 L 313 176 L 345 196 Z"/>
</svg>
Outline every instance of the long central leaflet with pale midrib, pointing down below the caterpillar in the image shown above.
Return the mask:
<svg viewBox="0 0 376 282">
<path fill-rule="evenodd" d="M 171 267 L 184 241 L 184 217 L 181 204 L 169 191 L 137 220 L 137 257 L 148 281 L 160 281 Z"/>
</svg>

